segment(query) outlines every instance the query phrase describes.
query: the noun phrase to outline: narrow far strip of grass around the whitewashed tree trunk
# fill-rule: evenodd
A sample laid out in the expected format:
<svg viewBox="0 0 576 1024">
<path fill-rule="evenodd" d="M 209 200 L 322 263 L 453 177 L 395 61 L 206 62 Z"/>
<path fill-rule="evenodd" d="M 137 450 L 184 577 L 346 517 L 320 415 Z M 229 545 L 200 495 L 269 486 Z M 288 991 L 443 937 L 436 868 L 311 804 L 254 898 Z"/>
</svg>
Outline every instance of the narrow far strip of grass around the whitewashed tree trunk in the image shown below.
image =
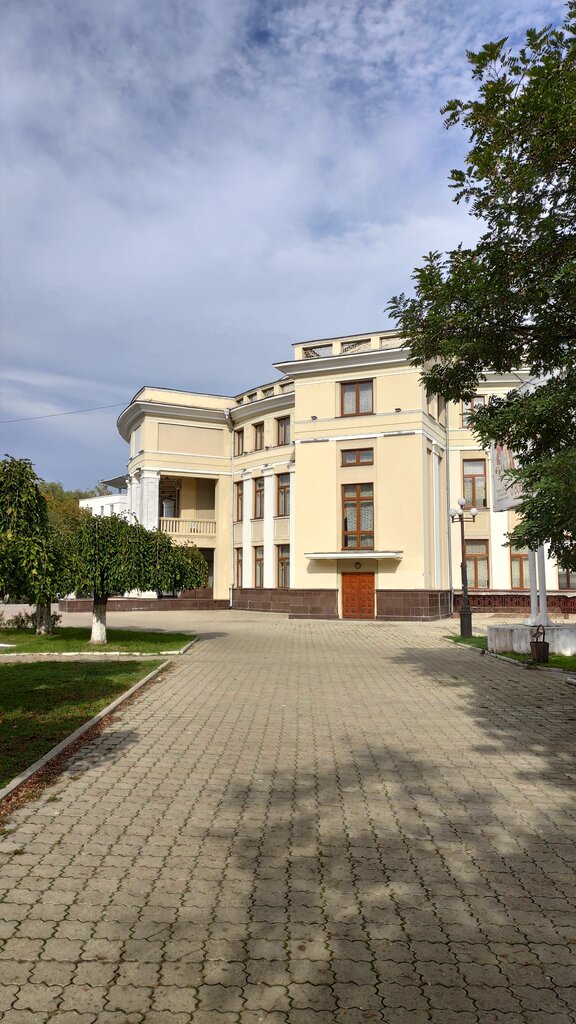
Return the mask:
<svg viewBox="0 0 576 1024">
<path fill-rule="evenodd" d="M 29 630 L 0 630 L 0 643 L 13 647 L 0 647 L 0 653 L 64 654 L 67 651 L 119 650 L 125 654 L 159 654 L 160 651 L 175 651 L 194 640 L 191 633 L 154 633 L 148 630 L 107 631 L 108 644 L 91 644 L 88 627 L 63 626 L 47 636 L 37 637 Z"/>
</svg>

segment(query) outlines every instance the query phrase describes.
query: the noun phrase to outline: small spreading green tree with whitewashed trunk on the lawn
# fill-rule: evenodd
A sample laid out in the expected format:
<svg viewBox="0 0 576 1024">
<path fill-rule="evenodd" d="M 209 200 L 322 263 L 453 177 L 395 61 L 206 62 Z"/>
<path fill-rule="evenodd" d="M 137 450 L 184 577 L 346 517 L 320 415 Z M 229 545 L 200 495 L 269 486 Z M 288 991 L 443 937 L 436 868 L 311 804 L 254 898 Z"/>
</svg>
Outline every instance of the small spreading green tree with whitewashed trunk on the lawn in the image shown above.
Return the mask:
<svg viewBox="0 0 576 1024">
<path fill-rule="evenodd" d="M 86 516 L 80 523 L 74 590 L 92 597 L 90 643 L 107 642 L 108 599 L 130 590 L 205 586 L 206 560 L 197 548 L 178 547 L 157 530 L 122 516 Z"/>
</svg>

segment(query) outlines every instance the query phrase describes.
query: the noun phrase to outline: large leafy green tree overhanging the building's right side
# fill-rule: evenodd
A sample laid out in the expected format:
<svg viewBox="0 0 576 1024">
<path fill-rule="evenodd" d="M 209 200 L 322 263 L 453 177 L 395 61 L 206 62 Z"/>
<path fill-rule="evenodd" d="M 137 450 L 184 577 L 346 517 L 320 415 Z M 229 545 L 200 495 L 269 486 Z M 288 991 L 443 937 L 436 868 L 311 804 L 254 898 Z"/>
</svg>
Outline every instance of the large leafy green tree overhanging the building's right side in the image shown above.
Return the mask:
<svg viewBox="0 0 576 1024">
<path fill-rule="evenodd" d="M 576 2 L 562 27 L 531 29 L 468 53 L 476 98 L 446 104 L 470 148 L 453 170 L 455 202 L 484 233 L 470 249 L 429 253 L 415 295 L 388 311 L 430 392 L 469 399 L 485 380 L 528 371 L 530 384 L 470 417 L 483 446 L 517 456 L 526 498 L 515 544 L 549 542 L 576 569 Z"/>
</svg>

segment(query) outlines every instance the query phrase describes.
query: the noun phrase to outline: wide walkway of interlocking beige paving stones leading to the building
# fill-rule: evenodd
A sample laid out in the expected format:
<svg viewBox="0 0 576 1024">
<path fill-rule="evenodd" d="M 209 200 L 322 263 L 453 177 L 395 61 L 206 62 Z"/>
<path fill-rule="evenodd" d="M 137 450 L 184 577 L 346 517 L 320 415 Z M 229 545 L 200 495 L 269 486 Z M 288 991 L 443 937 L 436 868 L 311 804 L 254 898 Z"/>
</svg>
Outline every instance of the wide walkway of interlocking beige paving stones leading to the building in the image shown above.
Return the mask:
<svg viewBox="0 0 576 1024">
<path fill-rule="evenodd" d="M 2 1024 L 576 1021 L 576 687 L 206 623 L 0 840 Z"/>
</svg>

